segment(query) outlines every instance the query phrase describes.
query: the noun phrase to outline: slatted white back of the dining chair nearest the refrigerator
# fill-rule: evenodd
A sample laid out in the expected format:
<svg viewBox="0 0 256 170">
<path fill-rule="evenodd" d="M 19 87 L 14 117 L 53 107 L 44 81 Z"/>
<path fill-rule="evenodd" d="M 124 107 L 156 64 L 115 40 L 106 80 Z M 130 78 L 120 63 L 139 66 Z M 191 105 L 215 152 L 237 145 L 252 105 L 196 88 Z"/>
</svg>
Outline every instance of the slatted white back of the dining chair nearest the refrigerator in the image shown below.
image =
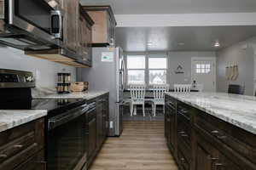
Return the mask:
<svg viewBox="0 0 256 170">
<path fill-rule="evenodd" d="M 132 100 L 144 100 L 145 99 L 145 89 L 146 86 L 140 84 L 133 84 L 131 88 L 131 99 Z"/>
</svg>

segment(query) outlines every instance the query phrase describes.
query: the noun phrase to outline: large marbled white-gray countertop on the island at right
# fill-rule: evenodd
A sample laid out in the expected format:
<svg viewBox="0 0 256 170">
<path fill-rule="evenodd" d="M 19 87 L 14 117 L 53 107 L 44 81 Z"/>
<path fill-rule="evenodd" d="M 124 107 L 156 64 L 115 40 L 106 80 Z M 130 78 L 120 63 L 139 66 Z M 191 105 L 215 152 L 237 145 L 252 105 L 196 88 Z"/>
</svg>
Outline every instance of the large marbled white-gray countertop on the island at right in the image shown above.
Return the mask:
<svg viewBox="0 0 256 170">
<path fill-rule="evenodd" d="M 166 93 L 201 111 L 256 134 L 256 98 L 224 93 Z"/>
</svg>

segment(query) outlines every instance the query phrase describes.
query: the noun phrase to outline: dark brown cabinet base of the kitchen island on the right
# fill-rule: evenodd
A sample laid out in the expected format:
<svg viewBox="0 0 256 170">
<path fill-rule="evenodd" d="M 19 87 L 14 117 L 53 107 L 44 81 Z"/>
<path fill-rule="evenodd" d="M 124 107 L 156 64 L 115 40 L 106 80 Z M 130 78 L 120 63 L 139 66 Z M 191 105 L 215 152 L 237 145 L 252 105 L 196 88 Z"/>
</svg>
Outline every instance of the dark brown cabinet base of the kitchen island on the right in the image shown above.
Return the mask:
<svg viewBox="0 0 256 170">
<path fill-rule="evenodd" d="M 166 143 L 179 169 L 256 170 L 253 133 L 168 95 L 165 111 Z"/>
</svg>

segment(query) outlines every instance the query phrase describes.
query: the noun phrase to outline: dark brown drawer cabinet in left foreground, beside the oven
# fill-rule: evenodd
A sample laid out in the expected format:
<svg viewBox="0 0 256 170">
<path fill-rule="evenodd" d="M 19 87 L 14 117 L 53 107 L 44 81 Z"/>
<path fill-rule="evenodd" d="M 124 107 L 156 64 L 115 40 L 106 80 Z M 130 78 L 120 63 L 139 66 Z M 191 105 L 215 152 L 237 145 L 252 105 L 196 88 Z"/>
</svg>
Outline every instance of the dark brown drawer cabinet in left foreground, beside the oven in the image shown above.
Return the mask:
<svg viewBox="0 0 256 170">
<path fill-rule="evenodd" d="M 1 170 L 46 170 L 44 118 L 0 133 Z"/>
</svg>

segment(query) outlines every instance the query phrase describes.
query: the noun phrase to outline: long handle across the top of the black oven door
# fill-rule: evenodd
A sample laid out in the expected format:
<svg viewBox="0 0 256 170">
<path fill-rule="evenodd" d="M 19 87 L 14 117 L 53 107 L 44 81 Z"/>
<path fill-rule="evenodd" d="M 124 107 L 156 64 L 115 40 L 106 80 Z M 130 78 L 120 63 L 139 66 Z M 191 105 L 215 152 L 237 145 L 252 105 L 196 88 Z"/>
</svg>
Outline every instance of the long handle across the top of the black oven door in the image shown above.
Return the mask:
<svg viewBox="0 0 256 170">
<path fill-rule="evenodd" d="M 59 127 L 62 124 L 73 121 L 73 119 L 84 115 L 84 113 L 86 113 L 86 111 L 88 111 L 88 109 L 89 109 L 88 107 L 79 107 L 79 108 L 73 109 L 71 111 L 67 111 L 61 115 L 49 118 L 48 130 L 50 131 L 50 130 L 54 129 L 55 127 Z"/>
</svg>

